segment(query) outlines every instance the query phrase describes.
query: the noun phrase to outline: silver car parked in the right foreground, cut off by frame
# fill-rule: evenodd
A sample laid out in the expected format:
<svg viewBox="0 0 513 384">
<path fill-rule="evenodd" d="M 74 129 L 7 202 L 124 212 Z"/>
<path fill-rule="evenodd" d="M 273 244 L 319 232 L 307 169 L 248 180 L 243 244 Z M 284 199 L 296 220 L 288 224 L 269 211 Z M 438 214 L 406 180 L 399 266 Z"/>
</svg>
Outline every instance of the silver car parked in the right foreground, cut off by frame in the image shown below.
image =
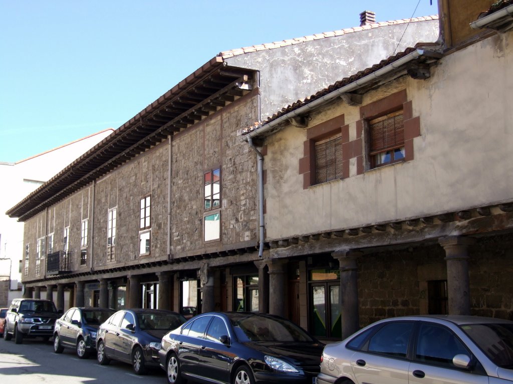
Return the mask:
<svg viewBox="0 0 513 384">
<path fill-rule="evenodd" d="M 371 324 L 324 347 L 318 384 L 513 382 L 513 322 L 409 316 Z"/>
</svg>

